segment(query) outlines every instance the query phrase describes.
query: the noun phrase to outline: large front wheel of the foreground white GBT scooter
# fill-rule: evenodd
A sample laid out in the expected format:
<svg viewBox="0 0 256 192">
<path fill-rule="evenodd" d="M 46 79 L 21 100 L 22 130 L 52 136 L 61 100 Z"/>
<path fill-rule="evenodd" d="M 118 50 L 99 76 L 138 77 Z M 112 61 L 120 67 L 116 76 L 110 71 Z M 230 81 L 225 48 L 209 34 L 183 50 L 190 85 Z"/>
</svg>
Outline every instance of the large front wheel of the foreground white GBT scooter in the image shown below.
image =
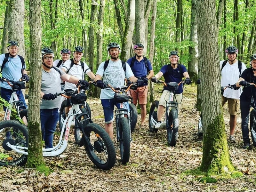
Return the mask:
<svg viewBox="0 0 256 192">
<path fill-rule="evenodd" d="M 90 123 L 83 127 L 84 147 L 93 164 L 109 170 L 116 162 L 116 150 L 108 133 L 98 124 Z"/>
</svg>

